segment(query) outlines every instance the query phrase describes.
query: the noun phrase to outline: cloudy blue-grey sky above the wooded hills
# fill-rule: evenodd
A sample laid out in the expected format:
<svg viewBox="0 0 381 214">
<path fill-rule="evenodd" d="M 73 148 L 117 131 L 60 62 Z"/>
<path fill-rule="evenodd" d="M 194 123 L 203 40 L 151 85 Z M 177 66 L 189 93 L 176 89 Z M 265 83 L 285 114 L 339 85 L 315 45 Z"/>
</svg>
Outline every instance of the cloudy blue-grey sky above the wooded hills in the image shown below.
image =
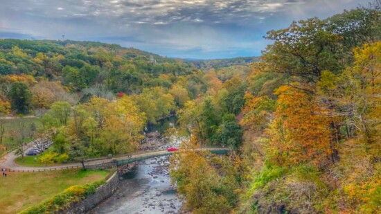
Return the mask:
<svg viewBox="0 0 381 214">
<path fill-rule="evenodd" d="M 0 38 L 97 41 L 167 57 L 258 56 L 272 29 L 368 0 L 0 0 Z"/>
</svg>

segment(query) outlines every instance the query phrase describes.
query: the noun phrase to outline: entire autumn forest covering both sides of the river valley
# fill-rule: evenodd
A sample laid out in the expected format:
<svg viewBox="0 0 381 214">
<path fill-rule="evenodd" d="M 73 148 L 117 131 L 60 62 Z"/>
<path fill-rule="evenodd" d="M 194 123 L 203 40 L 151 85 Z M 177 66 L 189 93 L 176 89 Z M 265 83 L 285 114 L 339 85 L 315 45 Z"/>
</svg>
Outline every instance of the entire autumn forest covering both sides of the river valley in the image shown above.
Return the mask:
<svg viewBox="0 0 381 214">
<path fill-rule="evenodd" d="M 260 60 L 207 61 L 0 39 L 0 113 L 42 124 L 20 124 L 10 145 L 22 154 L 28 136 L 51 139 L 46 163 L 135 152 L 148 123 L 176 114 L 183 148 L 232 149 L 172 155 L 184 211 L 378 213 L 381 2 L 265 38 Z"/>
</svg>

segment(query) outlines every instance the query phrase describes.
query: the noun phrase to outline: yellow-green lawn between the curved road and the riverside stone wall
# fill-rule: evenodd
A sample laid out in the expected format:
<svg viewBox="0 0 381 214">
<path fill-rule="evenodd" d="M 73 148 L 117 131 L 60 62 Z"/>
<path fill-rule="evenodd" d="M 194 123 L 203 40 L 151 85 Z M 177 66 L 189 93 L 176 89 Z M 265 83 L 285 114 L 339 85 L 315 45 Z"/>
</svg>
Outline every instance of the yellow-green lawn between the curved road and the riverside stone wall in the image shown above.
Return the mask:
<svg viewBox="0 0 381 214">
<path fill-rule="evenodd" d="M 61 193 L 73 185 L 90 184 L 105 179 L 102 170 L 57 170 L 46 172 L 8 172 L 0 177 L 1 213 L 18 213 Z"/>
</svg>

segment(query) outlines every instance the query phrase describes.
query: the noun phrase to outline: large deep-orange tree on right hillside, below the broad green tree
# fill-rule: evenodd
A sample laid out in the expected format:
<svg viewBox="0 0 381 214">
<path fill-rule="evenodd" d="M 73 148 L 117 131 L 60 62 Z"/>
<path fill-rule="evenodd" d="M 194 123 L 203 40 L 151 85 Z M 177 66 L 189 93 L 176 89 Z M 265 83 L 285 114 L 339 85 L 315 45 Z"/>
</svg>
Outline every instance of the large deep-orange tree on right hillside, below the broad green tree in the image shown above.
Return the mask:
<svg viewBox="0 0 381 214">
<path fill-rule="evenodd" d="M 330 118 L 314 96 L 291 86 L 280 87 L 274 123 L 267 132 L 270 159 L 278 165 L 319 165 L 335 149 L 331 143 Z"/>
</svg>

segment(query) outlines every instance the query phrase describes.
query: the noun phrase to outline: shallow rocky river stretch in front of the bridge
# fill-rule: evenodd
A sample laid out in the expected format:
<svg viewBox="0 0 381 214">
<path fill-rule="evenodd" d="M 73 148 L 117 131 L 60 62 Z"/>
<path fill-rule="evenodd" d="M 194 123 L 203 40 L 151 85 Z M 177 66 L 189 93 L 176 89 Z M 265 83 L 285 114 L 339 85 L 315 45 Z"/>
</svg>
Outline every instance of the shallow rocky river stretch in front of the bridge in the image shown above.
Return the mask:
<svg viewBox="0 0 381 214">
<path fill-rule="evenodd" d="M 170 184 L 168 158 L 141 161 L 123 176 L 119 190 L 90 213 L 178 213 L 181 202 Z"/>
</svg>

